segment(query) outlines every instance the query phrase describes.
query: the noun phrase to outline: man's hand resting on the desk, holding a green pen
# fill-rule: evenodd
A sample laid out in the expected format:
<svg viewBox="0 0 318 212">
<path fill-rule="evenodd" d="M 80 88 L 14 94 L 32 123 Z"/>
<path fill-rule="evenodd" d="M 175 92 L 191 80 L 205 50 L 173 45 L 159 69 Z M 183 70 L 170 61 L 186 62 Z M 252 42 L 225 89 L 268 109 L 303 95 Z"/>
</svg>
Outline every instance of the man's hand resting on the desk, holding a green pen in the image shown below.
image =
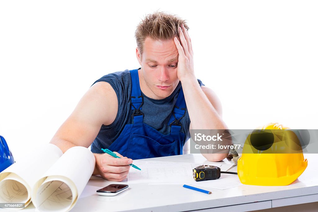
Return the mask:
<svg viewBox="0 0 318 212">
<path fill-rule="evenodd" d="M 114 152 L 121 158 L 114 158 L 109 154 L 94 154 L 96 159 L 96 169 L 100 176 L 109 181 L 125 180 L 129 172 L 129 164 L 133 163 L 132 159 L 123 157 L 118 152 Z"/>
</svg>

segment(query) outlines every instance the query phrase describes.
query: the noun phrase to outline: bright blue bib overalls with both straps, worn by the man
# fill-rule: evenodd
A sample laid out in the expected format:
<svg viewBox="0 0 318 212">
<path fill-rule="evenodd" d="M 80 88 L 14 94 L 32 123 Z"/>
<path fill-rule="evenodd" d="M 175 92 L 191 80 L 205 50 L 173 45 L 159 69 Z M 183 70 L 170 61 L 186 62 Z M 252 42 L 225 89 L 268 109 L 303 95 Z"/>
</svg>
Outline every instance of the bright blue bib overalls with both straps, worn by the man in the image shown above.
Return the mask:
<svg viewBox="0 0 318 212">
<path fill-rule="evenodd" d="M 182 88 L 169 120 L 171 131 L 168 135 L 164 135 L 143 123 L 144 114 L 141 111 L 143 96 L 139 85 L 138 69 L 130 70 L 130 76 L 132 82 L 130 104 L 131 110 L 134 110 L 133 124 L 126 124 L 119 137 L 108 149 L 133 160 L 181 155 L 185 134 L 181 132 L 180 120 L 184 117 L 186 110 Z"/>
</svg>

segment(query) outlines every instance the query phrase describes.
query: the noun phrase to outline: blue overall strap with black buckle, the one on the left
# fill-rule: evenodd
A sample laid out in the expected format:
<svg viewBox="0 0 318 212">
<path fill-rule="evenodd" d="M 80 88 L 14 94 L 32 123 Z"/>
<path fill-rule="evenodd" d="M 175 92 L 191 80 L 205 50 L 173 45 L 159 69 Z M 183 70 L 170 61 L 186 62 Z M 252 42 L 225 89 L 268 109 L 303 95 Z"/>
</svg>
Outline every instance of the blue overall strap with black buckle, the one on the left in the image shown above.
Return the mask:
<svg viewBox="0 0 318 212">
<path fill-rule="evenodd" d="M 131 104 L 131 110 L 135 110 L 133 115 L 131 115 L 131 117 L 134 120 L 134 124 L 142 123 L 144 115 L 140 110 L 142 109 L 143 96 L 141 95 L 141 90 L 139 85 L 138 69 L 130 70 L 129 72 L 131 77 L 130 104 Z"/>
</svg>

